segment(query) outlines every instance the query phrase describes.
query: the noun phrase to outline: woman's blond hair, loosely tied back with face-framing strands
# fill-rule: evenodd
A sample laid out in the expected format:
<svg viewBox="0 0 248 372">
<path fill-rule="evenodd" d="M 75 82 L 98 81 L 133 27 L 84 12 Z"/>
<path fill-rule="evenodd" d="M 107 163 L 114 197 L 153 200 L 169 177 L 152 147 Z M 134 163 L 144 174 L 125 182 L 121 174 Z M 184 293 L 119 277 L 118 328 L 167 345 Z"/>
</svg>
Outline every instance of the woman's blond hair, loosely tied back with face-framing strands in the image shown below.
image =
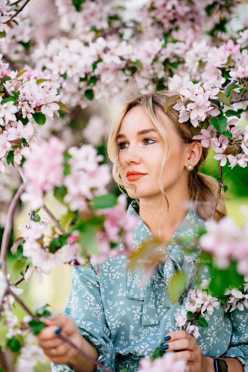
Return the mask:
<svg viewBox="0 0 248 372">
<path fill-rule="evenodd" d="M 120 125 L 122 123 L 122 119 L 126 115 L 126 113 L 134 106 L 141 106 L 147 115 L 147 118 L 151 122 L 152 126 L 158 131 L 161 136 L 163 142 L 163 151 L 160 160 L 160 171 L 159 171 L 159 185 L 161 189 L 162 197 L 164 196 L 167 202 L 167 212 L 169 209 L 169 202 L 164 192 L 164 187 L 162 184 L 162 170 L 166 166 L 168 159 L 171 154 L 172 143 L 170 140 L 170 127 L 168 125 L 164 125 L 164 122 L 159 115 L 159 108 L 161 108 L 164 112 L 164 105 L 167 98 L 176 94 L 177 92 L 172 92 L 168 90 L 152 92 L 152 93 L 145 93 L 145 94 L 138 94 L 135 97 L 128 99 L 126 102 L 121 103 L 115 110 L 112 118 L 110 119 L 110 128 L 109 128 L 109 136 L 107 140 L 107 154 L 109 159 L 113 162 L 112 174 L 113 179 L 115 180 L 117 186 L 119 187 L 120 191 L 125 193 L 125 185 L 129 188 L 133 188 L 135 192 L 135 199 L 136 198 L 136 186 L 126 184 L 120 177 L 120 171 L 122 167 L 119 162 L 119 151 L 117 148 L 116 143 L 116 136 L 119 132 Z M 194 142 L 192 140 L 193 134 L 190 131 L 191 124 L 189 122 L 178 122 L 178 111 L 173 109 L 171 106 L 166 115 L 169 116 L 171 121 L 174 124 L 174 128 L 178 137 L 181 141 L 180 145 L 183 148 L 184 145 L 190 144 Z M 201 165 L 205 164 L 205 160 L 208 154 L 209 148 L 202 148 L 202 155 L 199 162 L 194 166 L 194 169 L 189 171 L 189 198 L 190 200 L 195 202 L 195 211 L 198 217 L 202 218 L 203 220 L 209 219 L 211 217 L 211 212 L 213 206 L 215 205 L 217 191 L 218 191 L 218 182 L 212 176 L 207 176 L 206 174 L 200 173 L 198 171 Z M 124 190 L 123 190 L 124 189 Z M 198 201 L 198 203 L 197 203 Z M 164 216 L 167 214 L 164 214 Z M 216 212 L 215 212 L 215 219 L 219 220 L 220 218 L 226 215 L 226 206 L 224 202 L 223 195 L 220 196 Z M 163 216 L 163 217 L 164 217 Z"/>
</svg>

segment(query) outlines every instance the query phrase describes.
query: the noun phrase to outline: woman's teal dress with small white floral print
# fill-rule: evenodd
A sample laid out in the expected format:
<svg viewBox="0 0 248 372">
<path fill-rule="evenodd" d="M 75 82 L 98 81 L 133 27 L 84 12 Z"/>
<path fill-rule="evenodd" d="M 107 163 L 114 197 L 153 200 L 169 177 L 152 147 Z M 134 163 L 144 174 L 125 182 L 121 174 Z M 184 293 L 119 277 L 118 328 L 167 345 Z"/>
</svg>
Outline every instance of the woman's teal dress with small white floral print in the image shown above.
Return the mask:
<svg viewBox="0 0 248 372">
<path fill-rule="evenodd" d="M 152 233 L 139 217 L 139 205 L 132 201 L 128 214 L 138 218 L 134 231 L 134 246 L 153 239 Z M 175 314 L 189 301 L 189 293 L 183 304 L 172 303 L 168 292 L 168 281 L 177 270 L 183 269 L 188 283 L 196 268 L 200 246 L 197 250 L 183 252 L 176 237 L 193 237 L 197 228 L 205 222 L 193 208 L 184 217 L 177 231 L 169 241 L 167 257 L 159 262 L 146 280 L 142 280 L 142 265 L 129 270 L 129 259 L 124 254 L 109 258 L 100 264 L 100 273 L 92 262 L 87 266 L 73 265 L 72 290 L 65 306 L 64 315 L 72 318 L 80 333 L 98 350 L 98 362 L 112 371 L 126 369 L 138 371 L 139 360 L 149 355 L 162 342 L 164 336 L 180 329 L 175 326 Z M 123 249 L 123 244 L 119 243 Z M 163 248 L 156 248 L 161 250 Z M 200 279 L 210 279 L 208 267 L 201 265 Z M 196 285 L 196 278 L 192 288 Z M 237 357 L 248 372 L 248 311 L 238 309 L 225 312 L 223 305 L 213 314 L 204 315 L 207 328 L 200 328 L 201 337 L 196 342 L 203 356 Z M 67 365 L 51 363 L 52 372 L 71 372 Z M 96 368 L 96 371 L 102 371 Z"/>
</svg>

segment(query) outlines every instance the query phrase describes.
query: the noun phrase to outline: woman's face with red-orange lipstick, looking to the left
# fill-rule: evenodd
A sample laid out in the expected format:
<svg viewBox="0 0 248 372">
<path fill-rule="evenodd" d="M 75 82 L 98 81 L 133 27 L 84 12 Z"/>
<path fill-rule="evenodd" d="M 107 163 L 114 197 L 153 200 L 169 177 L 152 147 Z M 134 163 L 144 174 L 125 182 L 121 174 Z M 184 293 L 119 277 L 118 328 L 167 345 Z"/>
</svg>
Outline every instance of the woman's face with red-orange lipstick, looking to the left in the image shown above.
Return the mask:
<svg viewBox="0 0 248 372">
<path fill-rule="evenodd" d="M 173 128 L 170 118 L 161 110 L 164 125 Z M 143 131 L 143 133 L 138 133 Z M 144 131 L 147 131 L 144 133 Z M 118 135 L 122 134 L 121 138 Z M 159 186 L 159 163 L 162 156 L 162 140 L 158 132 L 152 127 L 146 113 L 141 106 L 134 106 L 126 113 L 122 120 L 117 145 L 119 160 L 123 169 L 120 176 L 124 182 L 136 185 L 138 198 L 151 198 L 161 194 Z M 170 131 L 172 140 L 172 153 L 166 167 L 163 170 L 162 182 L 165 192 L 173 187 L 175 183 L 183 182 L 187 187 L 189 172 L 185 165 L 189 157 L 189 148 L 183 151 L 181 158 L 181 147 L 179 139 L 174 130 Z M 181 160 L 181 165 L 180 165 Z M 179 173 L 178 172 L 179 167 Z M 127 172 L 136 171 L 144 173 L 140 176 L 127 176 Z M 137 179 L 138 178 L 138 179 Z M 131 198 L 135 198 L 134 191 L 126 186 L 126 191 Z"/>
</svg>

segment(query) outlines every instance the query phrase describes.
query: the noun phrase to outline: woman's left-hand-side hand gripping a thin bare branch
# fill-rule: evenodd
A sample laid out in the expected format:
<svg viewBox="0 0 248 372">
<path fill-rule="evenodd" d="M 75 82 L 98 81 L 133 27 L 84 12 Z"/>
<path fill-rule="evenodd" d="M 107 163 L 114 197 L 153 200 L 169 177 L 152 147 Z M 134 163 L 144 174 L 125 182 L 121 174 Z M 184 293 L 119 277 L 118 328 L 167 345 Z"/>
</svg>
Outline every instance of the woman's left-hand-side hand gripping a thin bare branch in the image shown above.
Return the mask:
<svg viewBox="0 0 248 372">
<path fill-rule="evenodd" d="M 51 362 L 56 364 L 67 364 L 71 358 L 77 354 L 77 350 L 59 339 L 55 330 L 61 328 L 62 336 L 72 341 L 77 347 L 81 349 L 83 336 L 81 335 L 75 322 L 65 315 L 54 315 L 51 320 L 45 319 L 44 323 L 47 327 L 37 335 L 38 344 L 44 350 L 44 353 L 49 357 Z M 54 355 L 51 349 L 55 349 Z"/>
</svg>

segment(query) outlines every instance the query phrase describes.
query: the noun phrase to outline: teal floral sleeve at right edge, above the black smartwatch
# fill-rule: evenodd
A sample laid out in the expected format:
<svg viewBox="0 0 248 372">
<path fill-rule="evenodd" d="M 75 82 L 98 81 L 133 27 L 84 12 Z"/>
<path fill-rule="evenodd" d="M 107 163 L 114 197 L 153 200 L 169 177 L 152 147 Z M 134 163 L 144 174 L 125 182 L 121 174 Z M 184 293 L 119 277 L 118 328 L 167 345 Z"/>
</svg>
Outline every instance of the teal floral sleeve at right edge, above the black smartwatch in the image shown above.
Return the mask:
<svg viewBox="0 0 248 372">
<path fill-rule="evenodd" d="M 227 351 L 222 355 L 236 357 L 248 372 L 248 310 L 236 308 L 228 314 L 232 321 L 232 335 Z"/>
</svg>

